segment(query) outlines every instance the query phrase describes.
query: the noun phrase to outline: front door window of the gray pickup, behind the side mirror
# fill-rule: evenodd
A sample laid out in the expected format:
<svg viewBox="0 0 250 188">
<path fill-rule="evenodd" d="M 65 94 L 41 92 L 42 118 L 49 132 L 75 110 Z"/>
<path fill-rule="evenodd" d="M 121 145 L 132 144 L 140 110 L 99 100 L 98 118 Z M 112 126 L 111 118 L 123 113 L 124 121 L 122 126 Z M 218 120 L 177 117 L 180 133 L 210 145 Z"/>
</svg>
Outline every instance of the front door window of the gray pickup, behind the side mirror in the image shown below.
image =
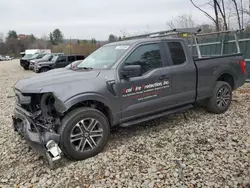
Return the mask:
<svg viewBox="0 0 250 188">
<path fill-rule="evenodd" d="M 162 67 L 159 45 L 146 44 L 138 47 L 125 61 L 125 65 L 141 65 L 142 73 Z"/>
</svg>

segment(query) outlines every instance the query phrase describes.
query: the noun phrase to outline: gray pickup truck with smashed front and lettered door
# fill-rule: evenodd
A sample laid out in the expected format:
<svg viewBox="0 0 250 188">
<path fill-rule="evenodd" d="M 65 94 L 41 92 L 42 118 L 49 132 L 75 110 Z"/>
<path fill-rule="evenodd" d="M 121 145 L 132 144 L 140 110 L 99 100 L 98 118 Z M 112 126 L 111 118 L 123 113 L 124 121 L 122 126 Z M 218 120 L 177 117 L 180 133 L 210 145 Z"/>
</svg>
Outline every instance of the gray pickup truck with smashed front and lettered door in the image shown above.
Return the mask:
<svg viewBox="0 0 250 188">
<path fill-rule="evenodd" d="M 52 167 L 63 154 L 73 160 L 98 154 L 116 125 L 187 110 L 199 101 L 209 112 L 224 113 L 245 79 L 241 53 L 194 58 L 182 38 L 127 39 L 102 46 L 74 67 L 18 81 L 13 125 Z"/>
</svg>

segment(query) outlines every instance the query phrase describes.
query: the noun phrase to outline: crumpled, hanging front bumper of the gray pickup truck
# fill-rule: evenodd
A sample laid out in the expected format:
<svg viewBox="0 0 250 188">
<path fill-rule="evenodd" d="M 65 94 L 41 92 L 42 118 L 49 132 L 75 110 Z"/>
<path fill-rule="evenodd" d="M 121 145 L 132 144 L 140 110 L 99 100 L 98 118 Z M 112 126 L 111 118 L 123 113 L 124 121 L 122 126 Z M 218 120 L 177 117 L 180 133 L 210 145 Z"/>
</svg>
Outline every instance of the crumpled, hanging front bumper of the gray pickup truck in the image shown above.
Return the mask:
<svg viewBox="0 0 250 188">
<path fill-rule="evenodd" d="M 60 139 L 59 134 L 41 127 L 41 125 L 36 122 L 33 114 L 26 111 L 19 105 L 15 106 L 12 120 L 14 130 L 19 132 L 35 151 L 37 151 L 40 155 L 47 157 L 51 167 L 53 166 L 51 162 L 61 158 L 61 150 L 58 147 Z M 55 143 L 55 147 L 57 147 L 56 149 L 58 150 L 59 156 L 49 154 L 49 148 L 47 148 L 47 144 L 51 141 Z"/>
</svg>

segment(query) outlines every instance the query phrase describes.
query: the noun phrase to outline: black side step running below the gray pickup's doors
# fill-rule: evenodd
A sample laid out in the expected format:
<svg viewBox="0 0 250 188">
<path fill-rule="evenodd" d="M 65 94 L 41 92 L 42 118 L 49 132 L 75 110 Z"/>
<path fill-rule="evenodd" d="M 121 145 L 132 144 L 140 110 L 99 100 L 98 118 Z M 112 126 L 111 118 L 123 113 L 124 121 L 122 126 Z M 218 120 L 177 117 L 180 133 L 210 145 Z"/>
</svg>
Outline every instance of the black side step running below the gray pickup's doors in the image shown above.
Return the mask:
<svg viewBox="0 0 250 188">
<path fill-rule="evenodd" d="M 131 125 L 139 124 L 141 122 L 145 122 L 145 121 L 149 121 L 149 120 L 156 119 L 156 118 L 159 118 L 159 117 L 163 117 L 163 116 L 166 116 L 166 115 L 169 115 L 169 114 L 182 112 L 182 111 L 185 111 L 185 110 L 190 109 L 190 108 L 193 108 L 192 104 L 188 104 L 188 105 L 185 105 L 185 106 L 174 108 L 174 109 L 164 111 L 164 112 L 161 112 L 161 113 L 145 116 L 145 117 L 142 117 L 142 118 L 134 119 L 134 120 L 131 120 L 131 121 L 126 121 L 124 123 L 121 123 L 120 127 L 128 127 L 128 126 L 131 126 Z"/>
</svg>

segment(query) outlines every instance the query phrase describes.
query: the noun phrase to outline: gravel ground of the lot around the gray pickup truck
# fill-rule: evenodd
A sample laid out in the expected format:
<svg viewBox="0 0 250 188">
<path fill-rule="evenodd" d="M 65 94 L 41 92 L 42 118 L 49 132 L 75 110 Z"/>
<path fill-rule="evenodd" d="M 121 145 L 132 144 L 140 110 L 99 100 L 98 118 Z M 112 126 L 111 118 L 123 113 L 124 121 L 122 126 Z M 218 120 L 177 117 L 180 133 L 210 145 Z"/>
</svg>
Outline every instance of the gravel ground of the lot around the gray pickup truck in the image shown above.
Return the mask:
<svg viewBox="0 0 250 188">
<path fill-rule="evenodd" d="M 221 115 L 201 105 L 130 128 L 116 128 L 90 159 L 55 170 L 12 129 L 12 86 L 34 73 L 0 62 L 0 187 L 250 187 L 250 85 Z"/>
</svg>

